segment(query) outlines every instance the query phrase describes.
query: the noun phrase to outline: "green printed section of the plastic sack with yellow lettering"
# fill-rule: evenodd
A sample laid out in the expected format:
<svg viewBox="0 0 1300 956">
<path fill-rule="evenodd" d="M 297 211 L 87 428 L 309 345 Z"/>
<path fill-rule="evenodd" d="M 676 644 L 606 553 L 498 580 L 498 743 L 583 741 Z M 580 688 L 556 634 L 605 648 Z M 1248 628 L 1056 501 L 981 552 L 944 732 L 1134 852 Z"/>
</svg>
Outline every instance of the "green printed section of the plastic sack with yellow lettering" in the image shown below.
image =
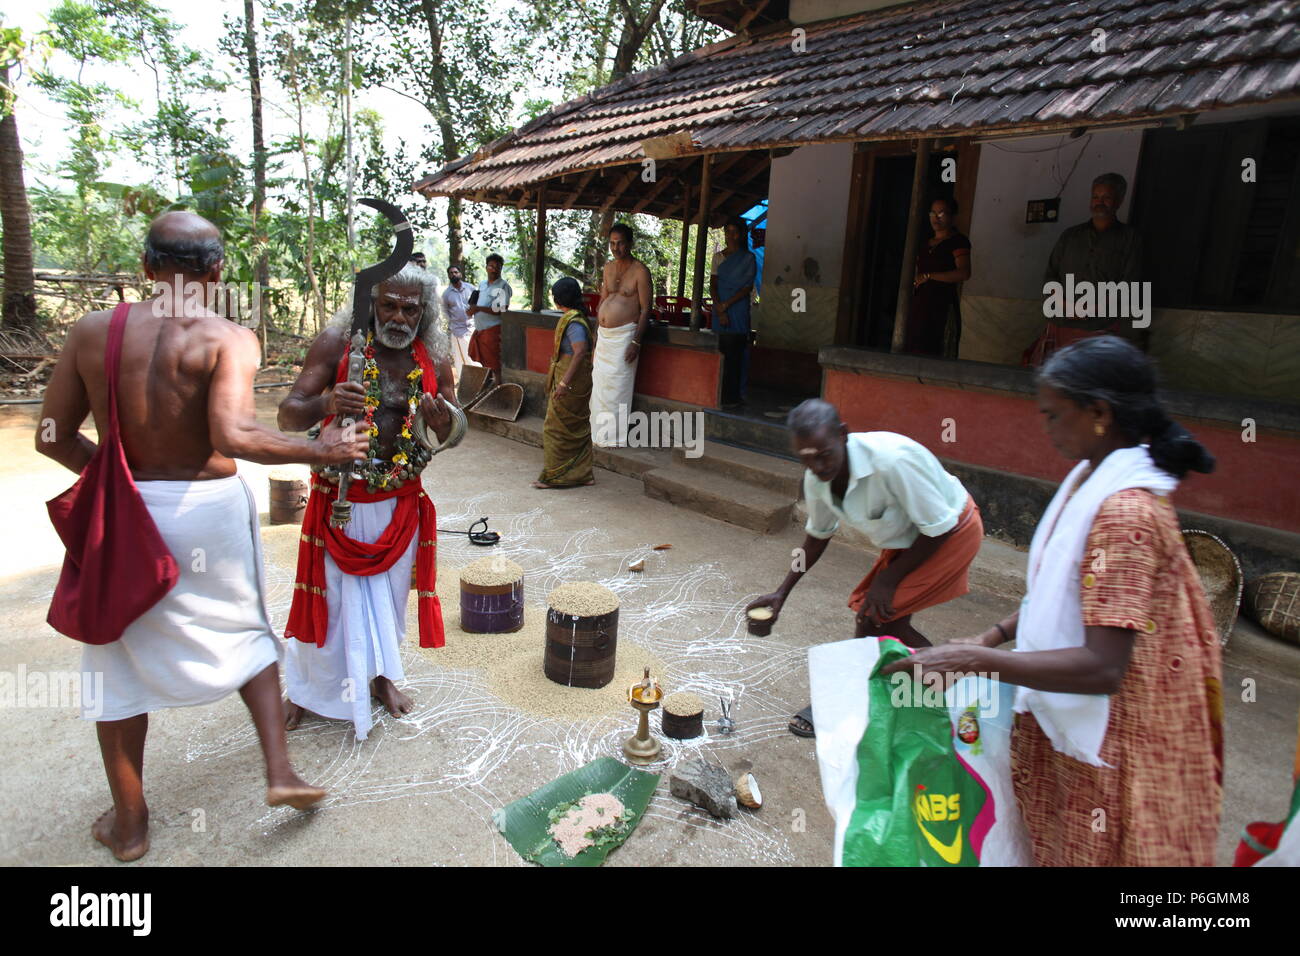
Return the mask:
<svg viewBox="0 0 1300 956">
<path fill-rule="evenodd" d="M 992 804 L 984 783 L 954 750 L 942 696 L 927 695 L 910 674 L 880 674 L 909 656 L 898 641 L 880 641 L 868 682 L 870 721 L 858 743 L 858 803 L 844 836 L 844 865 L 979 866 Z"/>
</svg>

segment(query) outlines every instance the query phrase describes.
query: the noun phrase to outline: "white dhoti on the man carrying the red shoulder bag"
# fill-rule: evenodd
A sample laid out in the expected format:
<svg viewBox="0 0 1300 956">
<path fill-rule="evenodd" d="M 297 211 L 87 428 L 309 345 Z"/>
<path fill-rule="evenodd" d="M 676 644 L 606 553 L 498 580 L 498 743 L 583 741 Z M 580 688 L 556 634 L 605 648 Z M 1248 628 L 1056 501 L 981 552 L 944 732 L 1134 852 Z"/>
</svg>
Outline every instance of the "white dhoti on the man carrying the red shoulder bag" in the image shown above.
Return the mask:
<svg viewBox="0 0 1300 956">
<path fill-rule="evenodd" d="M 238 475 L 209 481 L 138 481 L 181 578 L 112 644 L 82 652 L 90 721 L 211 704 L 278 659 L 266 614 L 252 492 Z M 87 678 L 91 683 L 87 683 Z"/>
</svg>

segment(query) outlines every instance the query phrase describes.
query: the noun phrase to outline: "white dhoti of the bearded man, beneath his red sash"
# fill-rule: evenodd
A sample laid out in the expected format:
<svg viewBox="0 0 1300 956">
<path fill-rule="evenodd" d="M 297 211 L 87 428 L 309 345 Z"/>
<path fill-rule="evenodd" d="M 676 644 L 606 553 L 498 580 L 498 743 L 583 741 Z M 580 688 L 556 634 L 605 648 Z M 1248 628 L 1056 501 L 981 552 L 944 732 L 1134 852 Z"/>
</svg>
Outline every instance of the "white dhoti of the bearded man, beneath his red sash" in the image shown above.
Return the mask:
<svg viewBox="0 0 1300 956">
<path fill-rule="evenodd" d="M 352 502 L 347 536 L 365 544 L 377 541 L 396 510 L 398 499 Z M 329 627 L 325 646 L 287 641 L 285 683 L 289 700 L 313 714 L 351 721 L 358 740 L 374 724 L 370 682 L 382 676 L 402 680 L 402 640 L 411 592 L 419 535 L 385 574 L 348 575 L 325 551 L 325 604 Z"/>
</svg>

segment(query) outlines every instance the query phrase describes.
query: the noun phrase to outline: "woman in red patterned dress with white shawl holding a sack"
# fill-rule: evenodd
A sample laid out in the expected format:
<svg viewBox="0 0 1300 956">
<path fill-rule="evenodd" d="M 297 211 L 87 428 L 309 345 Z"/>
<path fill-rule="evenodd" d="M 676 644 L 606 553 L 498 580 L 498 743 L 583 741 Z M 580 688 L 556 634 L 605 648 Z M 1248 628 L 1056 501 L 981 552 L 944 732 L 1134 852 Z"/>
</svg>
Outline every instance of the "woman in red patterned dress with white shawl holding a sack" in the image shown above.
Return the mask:
<svg viewBox="0 0 1300 956">
<path fill-rule="evenodd" d="M 1035 532 L 1024 602 L 892 670 L 1018 685 L 1013 779 L 1039 865 L 1213 865 L 1219 643 L 1169 493 L 1214 459 L 1114 336 L 1053 355 L 1037 399 L 1052 444 L 1079 464 Z"/>
</svg>

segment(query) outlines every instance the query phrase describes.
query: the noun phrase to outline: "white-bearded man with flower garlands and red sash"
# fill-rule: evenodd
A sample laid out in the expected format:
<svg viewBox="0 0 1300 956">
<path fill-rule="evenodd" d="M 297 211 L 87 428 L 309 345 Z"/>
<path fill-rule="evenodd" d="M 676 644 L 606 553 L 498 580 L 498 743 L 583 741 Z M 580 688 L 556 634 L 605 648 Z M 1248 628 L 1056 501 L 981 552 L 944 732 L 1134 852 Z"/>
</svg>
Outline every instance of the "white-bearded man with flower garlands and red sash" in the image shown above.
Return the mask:
<svg viewBox="0 0 1300 956">
<path fill-rule="evenodd" d="M 302 431 L 334 416 L 369 434 L 369 459 L 352 473 L 351 520 L 330 524 L 335 470 L 315 470 L 303 516 L 294 602 L 285 636 L 286 727 L 304 711 L 351 721 L 364 740 L 370 696 L 393 717 L 410 713 L 400 644 L 411 567 L 416 567 L 420 646 L 443 644 L 437 580 L 437 514 L 420 472 L 459 444 L 446 336 L 437 323 L 433 276 L 408 264 L 372 290 L 363 384 L 348 381 L 351 310 L 312 342 L 302 375 L 280 406 L 280 427 Z"/>
</svg>

